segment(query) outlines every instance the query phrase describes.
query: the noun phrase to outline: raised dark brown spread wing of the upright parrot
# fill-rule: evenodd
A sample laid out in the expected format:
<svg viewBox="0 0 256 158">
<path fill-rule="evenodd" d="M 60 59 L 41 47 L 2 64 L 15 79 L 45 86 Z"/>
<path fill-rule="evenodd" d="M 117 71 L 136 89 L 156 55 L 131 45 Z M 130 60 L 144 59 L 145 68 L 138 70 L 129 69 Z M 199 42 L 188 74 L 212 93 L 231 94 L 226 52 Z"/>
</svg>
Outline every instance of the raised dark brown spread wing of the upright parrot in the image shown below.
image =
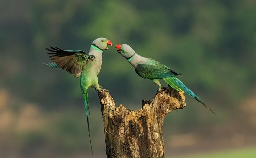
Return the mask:
<svg viewBox="0 0 256 158">
<path fill-rule="evenodd" d="M 95 56 L 89 55 L 82 50 L 62 50 L 57 47 L 46 49 L 51 51 L 51 53 L 48 54 L 51 54 L 49 57 L 53 61 L 49 63 L 49 67 L 61 67 L 75 77 L 79 77 L 83 68 L 90 61 L 95 60 Z"/>
</svg>

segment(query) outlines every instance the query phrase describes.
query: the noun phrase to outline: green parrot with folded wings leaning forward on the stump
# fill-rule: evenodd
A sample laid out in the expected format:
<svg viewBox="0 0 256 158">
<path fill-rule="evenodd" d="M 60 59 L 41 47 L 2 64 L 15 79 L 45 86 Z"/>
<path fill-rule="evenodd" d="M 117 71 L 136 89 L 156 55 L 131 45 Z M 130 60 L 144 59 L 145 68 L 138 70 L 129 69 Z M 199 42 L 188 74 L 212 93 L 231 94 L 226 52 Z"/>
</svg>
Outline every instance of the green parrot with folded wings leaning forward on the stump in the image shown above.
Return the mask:
<svg viewBox="0 0 256 158">
<path fill-rule="evenodd" d="M 179 92 L 187 93 L 190 97 L 202 103 L 206 109 L 218 116 L 218 114 L 216 114 L 213 110 L 207 107 L 199 97 L 197 97 L 188 87 L 186 87 L 178 78 L 175 77 L 177 75 L 181 75 L 181 73 L 173 71 L 168 66 L 161 64 L 154 59 L 145 58 L 138 55 L 127 44 L 118 44 L 115 47 L 118 49 L 117 52 L 125 57 L 128 62 L 135 68 L 136 73 L 140 77 L 150 79 L 159 86 L 158 91 L 160 93 L 162 93 L 162 89 L 159 80 L 163 79 L 173 89 Z"/>
</svg>

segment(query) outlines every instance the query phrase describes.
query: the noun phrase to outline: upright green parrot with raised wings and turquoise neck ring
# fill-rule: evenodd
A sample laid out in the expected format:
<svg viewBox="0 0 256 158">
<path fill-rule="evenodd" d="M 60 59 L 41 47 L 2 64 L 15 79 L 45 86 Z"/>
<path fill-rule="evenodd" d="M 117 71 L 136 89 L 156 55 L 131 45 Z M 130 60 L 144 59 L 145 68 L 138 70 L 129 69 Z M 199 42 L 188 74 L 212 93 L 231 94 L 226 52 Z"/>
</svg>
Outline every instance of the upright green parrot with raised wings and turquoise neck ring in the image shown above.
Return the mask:
<svg viewBox="0 0 256 158">
<path fill-rule="evenodd" d="M 80 77 L 80 87 L 84 98 L 84 106 L 87 118 L 87 125 L 89 131 L 89 138 L 91 144 L 91 151 L 92 151 L 92 143 L 91 143 L 91 136 L 90 136 L 90 126 L 89 126 L 89 102 L 88 102 L 88 93 L 87 89 L 92 86 L 98 91 L 104 90 L 98 83 L 98 74 L 101 69 L 101 62 L 102 62 L 102 52 L 103 50 L 107 50 L 108 46 L 112 46 L 112 42 L 105 38 L 98 38 L 95 39 L 90 47 L 89 53 L 86 53 L 82 50 L 62 50 L 60 48 L 53 48 L 51 49 L 46 48 L 47 50 L 51 51 L 51 60 L 46 64 L 49 67 L 60 67 L 75 77 Z M 107 91 L 107 90 L 105 90 Z M 91 117 L 91 116 L 90 116 Z M 92 151 L 93 154 L 93 151 Z"/>
</svg>

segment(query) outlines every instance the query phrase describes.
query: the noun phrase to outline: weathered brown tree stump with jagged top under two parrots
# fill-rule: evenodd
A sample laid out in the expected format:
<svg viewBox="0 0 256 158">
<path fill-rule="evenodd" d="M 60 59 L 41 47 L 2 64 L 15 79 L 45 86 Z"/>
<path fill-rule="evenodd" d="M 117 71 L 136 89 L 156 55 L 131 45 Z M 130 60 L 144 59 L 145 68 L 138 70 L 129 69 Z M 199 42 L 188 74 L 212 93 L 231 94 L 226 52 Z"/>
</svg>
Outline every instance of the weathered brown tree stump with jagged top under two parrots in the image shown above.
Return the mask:
<svg viewBox="0 0 256 158">
<path fill-rule="evenodd" d="M 98 92 L 104 122 L 108 158 L 164 157 L 163 121 L 165 115 L 186 106 L 182 92 L 163 88 L 150 101 L 143 100 L 136 111 L 115 106 L 109 92 Z"/>
</svg>

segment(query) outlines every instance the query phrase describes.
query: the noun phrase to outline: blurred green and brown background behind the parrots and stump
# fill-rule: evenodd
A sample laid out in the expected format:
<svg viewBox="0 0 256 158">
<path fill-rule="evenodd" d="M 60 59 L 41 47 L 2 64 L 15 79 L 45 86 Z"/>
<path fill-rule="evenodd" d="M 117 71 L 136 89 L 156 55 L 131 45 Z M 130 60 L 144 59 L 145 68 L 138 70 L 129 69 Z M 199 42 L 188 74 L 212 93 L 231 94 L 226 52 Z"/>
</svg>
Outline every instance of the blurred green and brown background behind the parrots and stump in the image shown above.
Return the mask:
<svg viewBox="0 0 256 158">
<path fill-rule="evenodd" d="M 98 37 L 182 72 L 220 115 L 185 95 L 186 108 L 165 118 L 166 157 L 256 157 L 256 1 L 1 0 L 0 10 L 1 157 L 91 157 L 79 80 L 42 63 L 45 47 L 87 52 Z M 158 88 L 114 47 L 98 77 L 116 105 L 133 110 Z M 106 157 L 91 88 L 89 101 L 94 157 Z"/>
</svg>

